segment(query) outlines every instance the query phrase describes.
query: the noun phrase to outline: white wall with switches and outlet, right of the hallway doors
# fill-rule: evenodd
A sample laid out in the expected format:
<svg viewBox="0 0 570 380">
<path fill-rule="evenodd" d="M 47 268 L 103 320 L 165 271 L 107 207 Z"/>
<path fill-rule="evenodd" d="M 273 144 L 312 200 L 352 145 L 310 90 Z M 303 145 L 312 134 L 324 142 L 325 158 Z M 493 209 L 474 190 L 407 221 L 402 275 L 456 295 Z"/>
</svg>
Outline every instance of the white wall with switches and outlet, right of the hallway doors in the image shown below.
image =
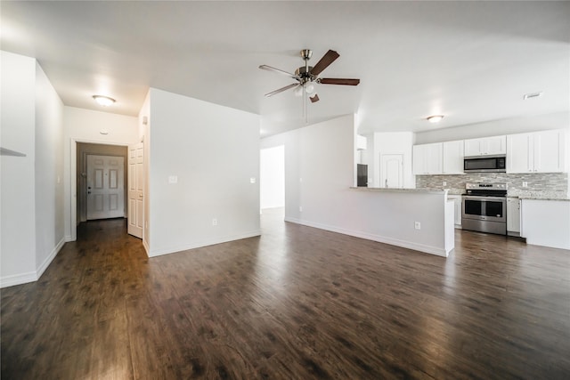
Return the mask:
<svg viewBox="0 0 570 380">
<path fill-rule="evenodd" d="M 259 235 L 259 117 L 154 88 L 150 105 L 150 255 Z"/>
</svg>

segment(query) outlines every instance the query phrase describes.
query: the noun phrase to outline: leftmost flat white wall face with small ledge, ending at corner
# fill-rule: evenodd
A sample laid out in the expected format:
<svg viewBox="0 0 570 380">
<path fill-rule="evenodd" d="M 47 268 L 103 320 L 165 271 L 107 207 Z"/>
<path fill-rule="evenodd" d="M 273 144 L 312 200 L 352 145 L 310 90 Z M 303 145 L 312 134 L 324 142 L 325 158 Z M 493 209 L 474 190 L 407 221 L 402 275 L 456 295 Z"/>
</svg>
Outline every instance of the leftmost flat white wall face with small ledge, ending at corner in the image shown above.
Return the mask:
<svg viewBox="0 0 570 380">
<path fill-rule="evenodd" d="M 2 156 L 2 286 L 37 279 L 34 162 L 36 60 L 0 52 L 2 63 L 2 140 L 0 145 L 26 157 Z"/>
</svg>

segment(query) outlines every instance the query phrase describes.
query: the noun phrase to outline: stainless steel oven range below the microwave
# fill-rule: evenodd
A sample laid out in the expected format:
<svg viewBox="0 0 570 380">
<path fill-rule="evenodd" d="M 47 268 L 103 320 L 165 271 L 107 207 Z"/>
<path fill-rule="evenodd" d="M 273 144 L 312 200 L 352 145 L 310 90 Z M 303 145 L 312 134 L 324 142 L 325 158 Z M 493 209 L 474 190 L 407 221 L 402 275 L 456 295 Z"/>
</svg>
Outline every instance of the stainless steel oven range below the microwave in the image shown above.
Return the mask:
<svg viewBox="0 0 570 380">
<path fill-rule="evenodd" d="M 507 183 L 466 183 L 461 228 L 507 234 Z"/>
</svg>

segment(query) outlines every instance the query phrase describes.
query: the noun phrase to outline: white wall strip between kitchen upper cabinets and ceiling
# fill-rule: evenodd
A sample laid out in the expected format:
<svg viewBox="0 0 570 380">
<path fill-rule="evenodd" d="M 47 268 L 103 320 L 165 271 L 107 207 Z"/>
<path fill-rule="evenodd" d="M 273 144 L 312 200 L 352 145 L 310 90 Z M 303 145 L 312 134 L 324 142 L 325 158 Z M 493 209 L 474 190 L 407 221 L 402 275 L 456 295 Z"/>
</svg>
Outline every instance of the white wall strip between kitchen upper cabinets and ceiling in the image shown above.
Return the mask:
<svg viewBox="0 0 570 380">
<path fill-rule="evenodd" d="M 452 128 L 416 133 L 415 144 L 475 139 L 501 134 L 546 131 L 570 127 L 570 112 L 558 112 L 534 117 L 513 117 L 485 123 L 462 125 Z"/>
</svg>

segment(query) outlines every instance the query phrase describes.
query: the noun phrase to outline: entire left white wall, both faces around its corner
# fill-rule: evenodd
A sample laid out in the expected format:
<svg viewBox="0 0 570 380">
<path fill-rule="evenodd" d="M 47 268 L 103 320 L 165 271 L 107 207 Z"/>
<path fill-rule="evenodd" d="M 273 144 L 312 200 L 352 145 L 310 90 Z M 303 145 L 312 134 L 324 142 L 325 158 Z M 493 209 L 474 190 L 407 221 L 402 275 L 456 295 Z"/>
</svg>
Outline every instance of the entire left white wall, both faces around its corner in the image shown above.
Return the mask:
<svg viewBox="0 0 570 380">
<path fill-rule="evenodd" d="M 35 281 L 63 246 L 63 103 L 33 58 L 2 54 L 0 287 Z"/>
</svg>

